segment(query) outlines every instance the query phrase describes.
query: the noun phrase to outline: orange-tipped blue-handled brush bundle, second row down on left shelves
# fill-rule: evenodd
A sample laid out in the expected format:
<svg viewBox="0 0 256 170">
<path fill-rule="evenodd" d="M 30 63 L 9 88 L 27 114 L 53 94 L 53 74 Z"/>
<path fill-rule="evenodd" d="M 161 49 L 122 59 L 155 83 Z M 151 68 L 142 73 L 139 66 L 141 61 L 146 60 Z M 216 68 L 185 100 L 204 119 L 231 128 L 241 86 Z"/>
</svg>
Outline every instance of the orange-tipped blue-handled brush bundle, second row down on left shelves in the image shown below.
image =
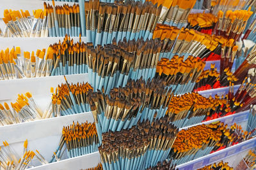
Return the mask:
<svg viewBox="0 0 256 170">
<path fill-rule="evenodd" d="M 86 45 L 79 39 L 74 43 L 70 36 L 65 36 L 63 42 L 59 41 L 49 46 L 52 49 L 51 76 L 87 73 Z M 48 65 L 47 65 L 48 66 Z"/>
</svg>

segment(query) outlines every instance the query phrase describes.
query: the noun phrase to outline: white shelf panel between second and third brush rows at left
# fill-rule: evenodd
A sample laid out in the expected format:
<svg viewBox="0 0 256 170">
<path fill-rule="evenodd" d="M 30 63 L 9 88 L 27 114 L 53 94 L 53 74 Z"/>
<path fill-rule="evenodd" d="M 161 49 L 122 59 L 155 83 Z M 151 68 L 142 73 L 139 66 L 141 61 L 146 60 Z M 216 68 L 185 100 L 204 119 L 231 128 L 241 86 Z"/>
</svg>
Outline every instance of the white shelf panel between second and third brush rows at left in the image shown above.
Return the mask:
<svg viewBox="0 0 256 170">
<path fill-rule="evenodd" d="M 82 83 L 89 81 L 88 74 L 66 75 L 68 83 Z M 24 78 L 16 80 L 0 81 L 0 103 L 15 102 L 18 94 L 31 92 L 36 104 L 42 109 L 47 108 L 47 104 L 51 102 L 51 87 L 58 87 L 61 83 L 65 83 L 63 76 L 49 76 L 40 78 Z"/>
</svg>

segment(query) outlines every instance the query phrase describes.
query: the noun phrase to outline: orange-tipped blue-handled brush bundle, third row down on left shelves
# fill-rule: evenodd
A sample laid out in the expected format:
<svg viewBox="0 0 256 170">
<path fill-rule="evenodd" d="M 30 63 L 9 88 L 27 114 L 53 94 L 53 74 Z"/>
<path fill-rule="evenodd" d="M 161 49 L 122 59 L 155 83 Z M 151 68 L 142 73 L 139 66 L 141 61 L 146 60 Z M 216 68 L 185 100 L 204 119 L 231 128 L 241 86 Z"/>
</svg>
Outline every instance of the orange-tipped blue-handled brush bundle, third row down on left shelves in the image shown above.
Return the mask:
<svg viewBox="0 0 256 170">
<path fill-rule="evenodd" d="M 89 83 L 77 83 L 58 85 L 54 93 L 52 92 L 52 108 L 51 106 L 44 113 L 44 118 L 60 117 L 64 115 L 73 115 L 90 111 L 88 101 L 88 91 L 92 90 Z"/>
</svg>

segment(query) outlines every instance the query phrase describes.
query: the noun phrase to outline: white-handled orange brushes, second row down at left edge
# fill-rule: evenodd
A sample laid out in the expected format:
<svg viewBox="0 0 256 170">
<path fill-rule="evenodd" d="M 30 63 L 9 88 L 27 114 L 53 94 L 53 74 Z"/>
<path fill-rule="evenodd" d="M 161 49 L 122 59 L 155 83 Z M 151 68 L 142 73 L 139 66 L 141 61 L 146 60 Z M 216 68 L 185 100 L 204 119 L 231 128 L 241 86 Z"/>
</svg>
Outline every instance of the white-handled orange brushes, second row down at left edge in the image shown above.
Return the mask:
<svg viewBox="0 0 256 170">
<path fill-rule="evenodd" d="M 37 50 L 36 56 L 32 52 L 24 52 L 21 56 L 20 47 L 9 48 L 0 52 L 0 80 L 10 80 L 17 78 L 34 78 L 50 76 L 52 72 L 52 48 Z"/>
</svg>

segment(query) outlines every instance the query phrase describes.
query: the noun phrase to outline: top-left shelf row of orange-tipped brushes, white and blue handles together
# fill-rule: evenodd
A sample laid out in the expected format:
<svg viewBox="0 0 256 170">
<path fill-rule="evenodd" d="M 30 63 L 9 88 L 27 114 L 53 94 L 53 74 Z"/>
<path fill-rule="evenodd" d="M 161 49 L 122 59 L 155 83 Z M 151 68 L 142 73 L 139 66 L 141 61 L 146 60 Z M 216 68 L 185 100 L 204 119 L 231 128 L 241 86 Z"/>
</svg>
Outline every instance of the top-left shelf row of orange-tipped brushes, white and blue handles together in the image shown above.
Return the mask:
<svg viewBox="0 0 256 170">
<path fill-rule="evenodd" d="M 44 3 L 44 10 L 35 10 L 33 16 L 27 10 L 4 10 L 3 20 L 6 24 L 3 37 L 63 37 L 81 33 L 78 4 L 55 7 L 54 1 L 52 6 Z"/>
</svg>

